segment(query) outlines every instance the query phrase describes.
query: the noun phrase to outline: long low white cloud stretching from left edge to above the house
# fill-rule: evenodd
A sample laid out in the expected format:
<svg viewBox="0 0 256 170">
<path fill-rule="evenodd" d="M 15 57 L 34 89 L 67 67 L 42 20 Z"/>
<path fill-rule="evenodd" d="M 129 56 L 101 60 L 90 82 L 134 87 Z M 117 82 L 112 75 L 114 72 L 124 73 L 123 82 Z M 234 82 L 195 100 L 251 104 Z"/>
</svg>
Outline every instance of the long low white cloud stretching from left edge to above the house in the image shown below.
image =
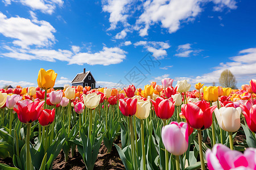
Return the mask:
<svg viewBox="0 0 256 170">
<path fill-rule="evenodd" d="M 73 53 L 70 50 L 48 50 L 48 49 L 18 49 L 10 48 L 9 46 L 3 46 L 3 48 L 9 50 L 7 53 L 0 53 L 2 57 L 10 57 L 15 59 L 31 60 L 39 59 L 43 61 L 55 62 L 67 61 L 69 64 L 83 65 L 111 65 L 117 64 L 126 58 L 125 50 L 118 47 L 104 48 L 96 53 Z"/>
</svg>

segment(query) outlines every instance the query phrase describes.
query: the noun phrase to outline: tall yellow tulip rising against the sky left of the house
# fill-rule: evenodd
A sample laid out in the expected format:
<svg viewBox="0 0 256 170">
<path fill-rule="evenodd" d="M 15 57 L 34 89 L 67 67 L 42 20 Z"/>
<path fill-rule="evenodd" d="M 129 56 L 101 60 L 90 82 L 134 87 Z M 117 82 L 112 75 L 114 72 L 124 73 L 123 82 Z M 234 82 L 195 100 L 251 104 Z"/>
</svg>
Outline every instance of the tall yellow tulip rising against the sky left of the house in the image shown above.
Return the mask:
<svg viewBox="0 0 256 170">
<path fill-rule="evenodd" d="M 55 84 L 57 73 L 52 69 L 44 70 L 40 69 L 38 72 L 38 86 L 44 90 L 52 88 Z"/>
</svg>

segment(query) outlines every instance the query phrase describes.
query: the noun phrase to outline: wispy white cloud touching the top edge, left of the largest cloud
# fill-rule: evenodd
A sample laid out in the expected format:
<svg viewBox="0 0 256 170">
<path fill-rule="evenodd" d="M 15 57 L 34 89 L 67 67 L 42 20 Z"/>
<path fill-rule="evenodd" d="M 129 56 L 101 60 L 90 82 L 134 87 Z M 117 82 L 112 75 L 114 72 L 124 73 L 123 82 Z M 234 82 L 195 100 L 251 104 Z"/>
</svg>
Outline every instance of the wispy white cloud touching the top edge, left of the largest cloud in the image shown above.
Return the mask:
<svg viewBox="0 0 256 170">
<path fill-rule="evenodd" d="M 127 23 L 128 12 L 130 10 L 129 4 L 132 0 L 102 0 L 102 10 L 109 12 L 110 28 L 115 29 L 118 22 Z"/>
</svg>

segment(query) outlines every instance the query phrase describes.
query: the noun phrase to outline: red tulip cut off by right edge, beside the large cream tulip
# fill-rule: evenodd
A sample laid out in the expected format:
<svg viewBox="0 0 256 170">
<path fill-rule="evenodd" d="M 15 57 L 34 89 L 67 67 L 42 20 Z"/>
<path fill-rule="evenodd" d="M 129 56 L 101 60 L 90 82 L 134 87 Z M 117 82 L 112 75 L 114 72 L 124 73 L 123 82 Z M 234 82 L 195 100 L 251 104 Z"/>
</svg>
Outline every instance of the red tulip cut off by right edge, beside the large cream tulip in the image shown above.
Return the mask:
<svg viewBox="0 0 256 170">
<path fill-rule="evenodd" d="M 253 105 L 251 101 L 247 101 L 246 104 L 241 104 L 240 107 L 249 129 L 256 133 L 256 105 Z"/>
</svg>

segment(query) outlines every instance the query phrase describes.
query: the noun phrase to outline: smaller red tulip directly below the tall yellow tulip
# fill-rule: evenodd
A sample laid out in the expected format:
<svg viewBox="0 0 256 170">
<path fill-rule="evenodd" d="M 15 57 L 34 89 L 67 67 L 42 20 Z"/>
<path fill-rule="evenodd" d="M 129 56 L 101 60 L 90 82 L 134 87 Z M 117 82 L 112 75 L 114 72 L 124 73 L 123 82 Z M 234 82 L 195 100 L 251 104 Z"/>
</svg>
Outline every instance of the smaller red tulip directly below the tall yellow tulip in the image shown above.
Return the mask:
<svg viewBox="0 0 256 170">
<path fill-rule="evenodd" d="M 48 126 L 52 124 L 53 120 L 55 118 L 55 109 L 44 109 L 42 111 L 42 114 L 38 118 L 39 124 L 42 126 Z"/>
</svg>

